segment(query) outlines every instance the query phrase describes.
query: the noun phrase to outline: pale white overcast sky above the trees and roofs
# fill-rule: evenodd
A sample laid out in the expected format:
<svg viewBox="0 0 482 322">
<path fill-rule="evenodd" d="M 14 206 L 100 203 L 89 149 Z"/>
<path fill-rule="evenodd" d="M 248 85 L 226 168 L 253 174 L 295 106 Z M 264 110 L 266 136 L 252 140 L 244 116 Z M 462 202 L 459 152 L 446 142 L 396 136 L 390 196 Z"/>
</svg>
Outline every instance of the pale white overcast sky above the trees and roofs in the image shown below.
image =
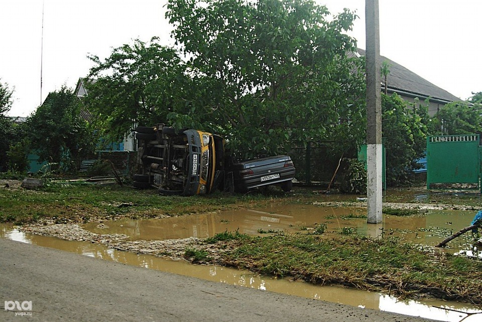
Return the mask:
<svg viewBox="0 0 482 322">
<path fill-rule="evenodd" d="M 316 2 L 332 14 L 356 10 L 359 19 L 350 35 L 365 49 L 364 0 Z M 74 88 L 92 66 L 89 53 L 105 58 L 112 48 L 153 36 L 172 44 L 165 3 L 0 0 L 0 82 L 15 89 L 9 115 L 28 116 L 49 92 L 62 85 Z M 467 99 L 482 91 L 481 13 L 480 0 L 380 0 L 381 55 Z"/>
</svg>

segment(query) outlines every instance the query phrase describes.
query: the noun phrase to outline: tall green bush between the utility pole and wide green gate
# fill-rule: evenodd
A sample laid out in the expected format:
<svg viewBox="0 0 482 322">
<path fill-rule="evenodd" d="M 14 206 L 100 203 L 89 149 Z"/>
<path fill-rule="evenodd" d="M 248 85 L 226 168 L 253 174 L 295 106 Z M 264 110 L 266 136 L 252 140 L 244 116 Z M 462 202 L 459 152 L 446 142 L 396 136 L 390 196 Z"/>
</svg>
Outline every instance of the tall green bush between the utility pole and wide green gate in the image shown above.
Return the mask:
<svg viewBox="0 0 482 322">
<path fill-rule="evenodd" d="M 418 102 L 417 102 L 418 103 Z M 388 186 L 409 183 L 416 160 L 423 157 L 426 137 L 431 134 L 427 107 L 408 105 L 399 95 L 382 94 L 382 136 L 386 149 L 386 178 Z"/>
</svg>

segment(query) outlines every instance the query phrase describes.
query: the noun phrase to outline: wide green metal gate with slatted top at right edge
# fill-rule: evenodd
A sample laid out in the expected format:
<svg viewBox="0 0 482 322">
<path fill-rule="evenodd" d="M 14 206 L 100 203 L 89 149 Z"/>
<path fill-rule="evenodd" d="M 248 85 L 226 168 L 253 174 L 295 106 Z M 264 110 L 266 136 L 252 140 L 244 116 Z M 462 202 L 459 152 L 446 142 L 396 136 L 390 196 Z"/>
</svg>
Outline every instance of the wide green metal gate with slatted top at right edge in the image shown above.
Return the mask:
<svg viewBox="0 0 482 322">
<path fill-rule="evenodd" d="M 427 137 L 427 189 L 434 184 L 480 185 L 479 134 Z"/>
</svg>

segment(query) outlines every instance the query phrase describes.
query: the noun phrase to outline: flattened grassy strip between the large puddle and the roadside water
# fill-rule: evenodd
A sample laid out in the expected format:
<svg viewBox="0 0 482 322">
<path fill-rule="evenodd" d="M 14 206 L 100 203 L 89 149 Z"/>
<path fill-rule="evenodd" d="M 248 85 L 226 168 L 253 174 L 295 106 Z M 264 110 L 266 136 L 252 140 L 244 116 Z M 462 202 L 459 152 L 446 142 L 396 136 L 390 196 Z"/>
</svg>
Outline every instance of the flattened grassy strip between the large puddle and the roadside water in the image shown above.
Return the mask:
<svg viewBox="0 0 482 322">
<path fill-rule="evenodd" d="M 482 305 L 482 261 L 427 251 L 395 238 L 313 235 L 254 237 L 226 233 L 207 242 L 231 249 L 223 265 L 315 284 L 385 290 Z M 192 251 L 192 250 L 191 250 Z"/>
</svg>

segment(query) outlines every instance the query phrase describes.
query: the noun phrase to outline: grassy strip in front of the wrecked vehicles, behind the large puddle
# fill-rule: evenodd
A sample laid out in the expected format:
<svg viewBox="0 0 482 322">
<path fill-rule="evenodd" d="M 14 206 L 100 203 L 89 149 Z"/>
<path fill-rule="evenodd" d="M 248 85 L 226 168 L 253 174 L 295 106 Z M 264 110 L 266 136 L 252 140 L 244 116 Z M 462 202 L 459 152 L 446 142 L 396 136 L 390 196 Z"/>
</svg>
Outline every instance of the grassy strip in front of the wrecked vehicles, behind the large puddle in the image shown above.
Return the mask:
<svg viewBox="0 0 482 322">
<path fill-rule="evenodd" d="M 158 195 L 155 190 L 95 185 L 52 185 L 36 191 L 0 189 L 0 222 L 25 224 L 52 219 L 55 223 L 66 223 L 119 217 L 156 218 L 261 207 L 280 196 L 285 195 L 274 190 L 268 194 L 167 197 Z M 292 194 L 284 202 L 291 198 L 298 197 Z"/>
</svg>

